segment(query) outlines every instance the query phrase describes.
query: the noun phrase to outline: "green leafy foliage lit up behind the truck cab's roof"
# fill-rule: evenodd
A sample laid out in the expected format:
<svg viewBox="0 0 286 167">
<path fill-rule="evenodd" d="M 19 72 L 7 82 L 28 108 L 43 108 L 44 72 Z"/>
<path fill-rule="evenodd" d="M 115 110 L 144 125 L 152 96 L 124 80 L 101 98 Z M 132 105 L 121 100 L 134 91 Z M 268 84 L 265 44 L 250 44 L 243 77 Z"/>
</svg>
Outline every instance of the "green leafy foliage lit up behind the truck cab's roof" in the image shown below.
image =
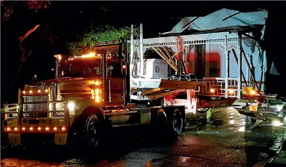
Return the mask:
<svg viewBox="0 0 286 167">
<path fill-rule="evenodd" d="M 134 32 L 137 29 L 134 29 Z M 81 54 L 87 43 L 95 46 L 95 42 L 106 42 L 119 40 L 123 42 L 124 38 L 129 39 L 131 30 L 130 27 L 115 28 L 114 26 L 91 26 L 89 31 L 86 31 L 82 36 L 76 34 L 74 40 L 72 37 L 68 38 L 65 42 L 66 48 L 70 54 Z"/>
</svg>

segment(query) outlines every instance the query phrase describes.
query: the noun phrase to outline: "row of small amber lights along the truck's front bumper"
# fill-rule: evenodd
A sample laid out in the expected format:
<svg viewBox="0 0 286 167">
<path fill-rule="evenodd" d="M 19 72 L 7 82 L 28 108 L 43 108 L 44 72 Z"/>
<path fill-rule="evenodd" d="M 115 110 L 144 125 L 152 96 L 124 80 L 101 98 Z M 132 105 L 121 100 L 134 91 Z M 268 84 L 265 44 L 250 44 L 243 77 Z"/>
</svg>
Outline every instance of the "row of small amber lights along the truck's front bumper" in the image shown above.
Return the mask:
<svg viewBox="0 0 286 167">
<path fill-rule="evenodd" d="M 67 130 L 66 127 L 5 127 L 5 132 L 65 132 Z"/>
</svg>

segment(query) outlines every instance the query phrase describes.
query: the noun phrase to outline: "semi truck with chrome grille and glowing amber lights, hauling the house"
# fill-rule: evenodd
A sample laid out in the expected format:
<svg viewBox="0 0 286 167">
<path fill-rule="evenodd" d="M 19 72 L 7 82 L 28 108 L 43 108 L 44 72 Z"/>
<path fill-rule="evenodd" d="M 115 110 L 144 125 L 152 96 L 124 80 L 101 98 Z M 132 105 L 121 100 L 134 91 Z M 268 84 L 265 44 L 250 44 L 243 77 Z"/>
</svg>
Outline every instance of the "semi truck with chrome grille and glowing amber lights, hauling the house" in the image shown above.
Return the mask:
<svg viewBox="0 0 286 167">
<path fill-rule="evenodd" d="M 182 131 L 184 105 L 130 102 L 126 39 L 101 44 L 80 56 L 55 55 L 54 79 L 25 84 L 19 89 L 18 102 L 5 104 L 4 132 L 10 144 L 44 136 L 56 145 L 79 141 L 96 148 L 103 132 L 115 127 L 149 125 L 170 135 Z M 161 88 L 176 82 L 162 81 Z"/>
</svg>

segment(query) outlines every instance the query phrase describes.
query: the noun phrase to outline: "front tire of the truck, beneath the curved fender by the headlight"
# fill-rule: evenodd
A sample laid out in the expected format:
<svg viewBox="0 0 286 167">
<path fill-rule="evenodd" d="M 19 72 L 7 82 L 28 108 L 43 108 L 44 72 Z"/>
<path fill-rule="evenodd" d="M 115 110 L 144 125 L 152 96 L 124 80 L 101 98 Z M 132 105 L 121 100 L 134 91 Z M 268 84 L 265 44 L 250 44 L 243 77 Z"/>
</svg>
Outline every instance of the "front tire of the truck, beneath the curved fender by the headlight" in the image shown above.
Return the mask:
<svg viewBox="0 0 286 167">
<path fill-rule="evenodd" d="M 86 119 L 84 128 L 84 140 L 89 148 L 97 148 L 100 138 L 100 124 L 95 114 Z"/>
</svg>

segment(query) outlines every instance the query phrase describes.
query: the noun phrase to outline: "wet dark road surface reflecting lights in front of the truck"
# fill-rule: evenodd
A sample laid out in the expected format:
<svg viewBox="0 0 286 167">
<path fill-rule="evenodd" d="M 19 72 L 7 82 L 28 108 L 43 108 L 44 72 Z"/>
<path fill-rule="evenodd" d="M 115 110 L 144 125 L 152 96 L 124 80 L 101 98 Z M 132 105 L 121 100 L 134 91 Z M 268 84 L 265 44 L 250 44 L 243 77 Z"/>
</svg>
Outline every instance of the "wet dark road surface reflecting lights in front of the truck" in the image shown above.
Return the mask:
<svg viewBox="0 0 286 167">
<path fill-rule="evenodd" d="M 187 123 L 175 140 L 132 135 L 136 130 L 116 134 L 100 153 L 1 149 L 1 167 L 262 167 L 286 140 L 286 128 L 248 124 L 232 107 L 212 109 L 210 121 L 196 117 Z"/>
</svg>

